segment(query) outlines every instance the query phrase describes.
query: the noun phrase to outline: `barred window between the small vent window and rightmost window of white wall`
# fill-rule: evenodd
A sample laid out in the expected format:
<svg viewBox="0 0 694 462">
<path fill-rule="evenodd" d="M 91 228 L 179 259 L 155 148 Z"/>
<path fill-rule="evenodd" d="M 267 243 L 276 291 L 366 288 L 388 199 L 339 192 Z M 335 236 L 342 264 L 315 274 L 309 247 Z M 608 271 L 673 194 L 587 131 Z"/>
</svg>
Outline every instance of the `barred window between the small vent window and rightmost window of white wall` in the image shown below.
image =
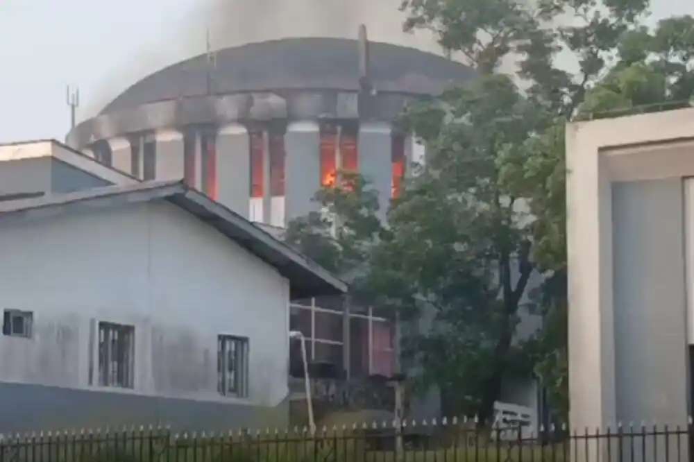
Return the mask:
<svg viewBox="0 0 694 462">
<path fill-rule="evenodd" d="M 99 323 L 99 386 L 134 388 L 135 326 Z"/>
</svg>

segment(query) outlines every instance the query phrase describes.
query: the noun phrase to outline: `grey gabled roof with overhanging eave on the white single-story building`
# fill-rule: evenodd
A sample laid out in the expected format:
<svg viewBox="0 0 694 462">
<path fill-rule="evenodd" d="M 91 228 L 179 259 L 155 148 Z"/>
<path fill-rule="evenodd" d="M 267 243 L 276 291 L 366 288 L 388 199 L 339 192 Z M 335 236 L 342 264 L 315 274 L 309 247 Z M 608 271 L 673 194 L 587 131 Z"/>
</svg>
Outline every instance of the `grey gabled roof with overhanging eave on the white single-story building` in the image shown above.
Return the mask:
<svg viewBox="0 0 694 462">
<path fill-rule="evenodd" d="M 347 284 L 285 243 L 253 225 L 239 214 L 187 187 L 181 181 L 142 182 L 137 185 L 110 186 L 69 194 L 0 202 L 0 217 L 61 212 L 61 208 L 80 205 L 109 207 L 123 203 L 167 200 L 184 209 L 226 237 L 235 241 L 287 277 L 291 298 L 337 295 L 347 291 Z"/>
</svg>

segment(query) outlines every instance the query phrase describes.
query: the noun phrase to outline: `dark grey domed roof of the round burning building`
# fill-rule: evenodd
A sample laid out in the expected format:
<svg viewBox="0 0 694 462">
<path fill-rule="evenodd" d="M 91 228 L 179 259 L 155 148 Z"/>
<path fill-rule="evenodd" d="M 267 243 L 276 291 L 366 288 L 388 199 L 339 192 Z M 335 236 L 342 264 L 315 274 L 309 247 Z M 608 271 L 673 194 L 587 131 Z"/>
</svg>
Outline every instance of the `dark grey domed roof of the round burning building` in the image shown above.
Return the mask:
<svg viewBox="0 0 694 462">
<path fill-rule="evenodd" d="M 387 43 L 369 43 L 371 82 L 379 92 L 437 94 L 449 83 L 469 80 L 473 70 L 432 53 Z M 101 114 L 144 103 L 200 96 L 208 91 L 205 55 L 178 62 L 126 89 Z M 246 44 L 216 53 L 213 92 L 359 89 L 357 40 L 289 38 Z"/>
</svg>

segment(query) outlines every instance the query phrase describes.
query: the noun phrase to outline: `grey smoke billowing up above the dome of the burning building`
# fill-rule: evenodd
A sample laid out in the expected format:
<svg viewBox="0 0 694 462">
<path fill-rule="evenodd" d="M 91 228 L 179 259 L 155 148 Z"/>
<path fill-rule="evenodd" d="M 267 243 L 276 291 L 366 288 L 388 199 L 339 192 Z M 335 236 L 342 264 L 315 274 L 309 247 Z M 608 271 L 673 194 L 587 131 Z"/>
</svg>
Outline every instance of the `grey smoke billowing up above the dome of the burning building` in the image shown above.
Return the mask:
<svg viewBox="0 0 694 462">
<path fill-rule="evenodd" d="M 425 32 L 403 32 L 400 0 L 207 0 L 185 16 L 185 24 L 145 46 L 92 96 L 82 117 L 92 117 L 128 86 L 174 62 L 205 52 L 206 31 L 214 49 L 284 37 L 356 38 L 366 24 L 369 40 L 441 53 Z M 183 31 L 183 33 L 181 33 Z"/>
</svg>

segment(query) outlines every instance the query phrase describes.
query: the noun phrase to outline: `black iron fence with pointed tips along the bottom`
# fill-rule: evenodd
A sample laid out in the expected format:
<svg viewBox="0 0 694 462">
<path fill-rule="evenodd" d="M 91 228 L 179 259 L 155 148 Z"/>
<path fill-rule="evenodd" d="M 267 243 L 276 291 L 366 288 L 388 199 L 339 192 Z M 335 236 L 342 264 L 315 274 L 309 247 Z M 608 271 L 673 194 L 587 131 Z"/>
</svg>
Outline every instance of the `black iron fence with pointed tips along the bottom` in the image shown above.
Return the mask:
<svg viewBox="0 0 694 462">
<path fill-rule="evenodd" d="M 690 459 L 694 426 L 477 429 L 459 422 L 278 431 L 166 428 L 3 435 L 0 462 L 647 462 Z M 694 454 L 693 454 L 694 455 Z"/>
</svg>

